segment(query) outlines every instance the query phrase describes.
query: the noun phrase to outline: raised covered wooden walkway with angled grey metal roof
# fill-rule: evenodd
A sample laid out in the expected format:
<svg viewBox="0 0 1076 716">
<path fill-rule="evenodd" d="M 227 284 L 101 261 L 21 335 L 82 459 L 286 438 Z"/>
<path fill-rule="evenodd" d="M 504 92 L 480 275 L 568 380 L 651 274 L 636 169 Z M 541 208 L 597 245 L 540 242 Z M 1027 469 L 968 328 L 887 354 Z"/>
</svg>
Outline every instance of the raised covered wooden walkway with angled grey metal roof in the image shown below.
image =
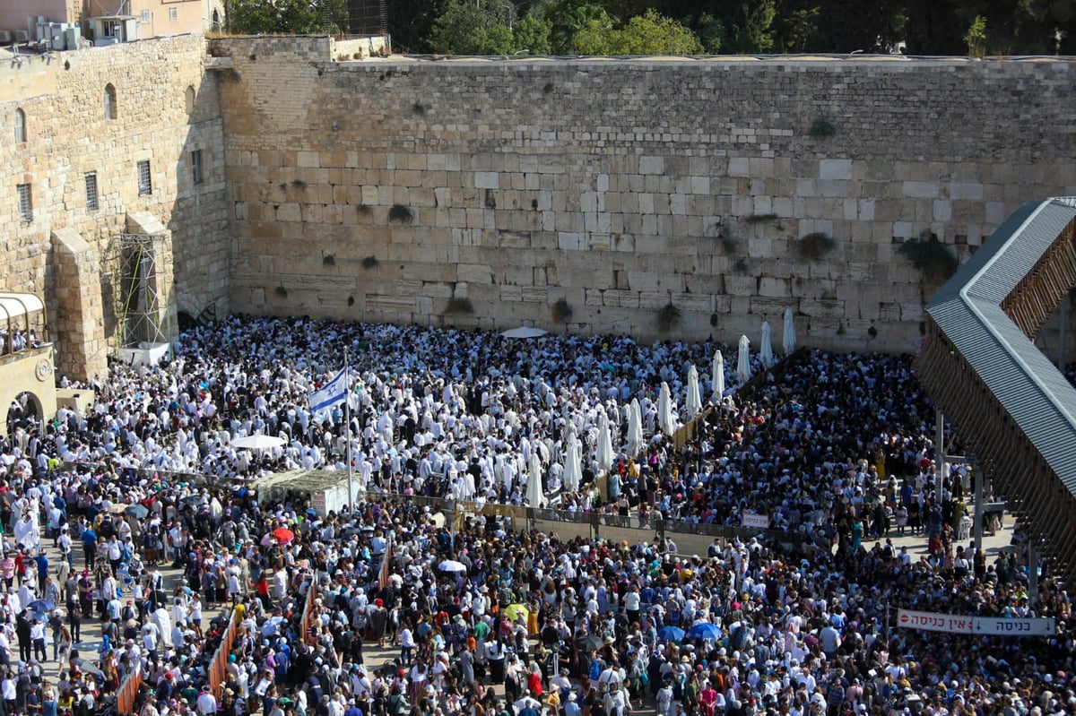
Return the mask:
<svg viewBox="0 0 1076 716">
<path fill-rule="evenodd" d="M 1033 340 L 1076 285 L 1076 201 L 1020 206 L 926 306 L 920 382 L 1076 587 L 1076 389 Z"/>
</svg>

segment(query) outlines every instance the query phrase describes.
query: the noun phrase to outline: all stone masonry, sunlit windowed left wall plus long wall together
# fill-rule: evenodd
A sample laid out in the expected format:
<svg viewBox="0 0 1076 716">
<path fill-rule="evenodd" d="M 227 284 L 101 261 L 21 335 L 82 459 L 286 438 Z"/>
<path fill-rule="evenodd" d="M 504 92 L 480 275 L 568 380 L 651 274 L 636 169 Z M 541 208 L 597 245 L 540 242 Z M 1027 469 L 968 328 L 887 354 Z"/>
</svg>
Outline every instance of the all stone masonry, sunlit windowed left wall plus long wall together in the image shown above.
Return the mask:
<svg viewBox="0 0 1076 716">
<path fill-rule="evenodd" d="M 792 307 L 802 342 L 906 350 L 932 287 L 901 242 L 965 257 L 1076 194 L 1068 61 L 349 60 L 374 51 L 182 37 L 0 68 L 0 290 L 45 296 L 61 372 L 103 370 L 139 227 L 173 257 L 169 332 L 215 309 L 649 340 L 671 302 L 674 338 Z"/>
</svg>

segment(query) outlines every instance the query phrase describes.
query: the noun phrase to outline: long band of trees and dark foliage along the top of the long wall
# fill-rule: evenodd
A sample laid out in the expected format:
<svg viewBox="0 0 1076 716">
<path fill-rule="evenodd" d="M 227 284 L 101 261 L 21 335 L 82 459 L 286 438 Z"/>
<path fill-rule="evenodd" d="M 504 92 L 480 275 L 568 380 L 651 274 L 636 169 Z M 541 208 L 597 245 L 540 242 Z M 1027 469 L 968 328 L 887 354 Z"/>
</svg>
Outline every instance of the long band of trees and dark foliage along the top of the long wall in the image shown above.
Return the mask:
<svg viewBox="0 0 1076 716">
<path fill-rule="evenodd" d="M 388 28 L 397 52 L 457 55 L 1052 55 L 1076 51 L 1076 0 L 388 0 Z"/>
</svg>

